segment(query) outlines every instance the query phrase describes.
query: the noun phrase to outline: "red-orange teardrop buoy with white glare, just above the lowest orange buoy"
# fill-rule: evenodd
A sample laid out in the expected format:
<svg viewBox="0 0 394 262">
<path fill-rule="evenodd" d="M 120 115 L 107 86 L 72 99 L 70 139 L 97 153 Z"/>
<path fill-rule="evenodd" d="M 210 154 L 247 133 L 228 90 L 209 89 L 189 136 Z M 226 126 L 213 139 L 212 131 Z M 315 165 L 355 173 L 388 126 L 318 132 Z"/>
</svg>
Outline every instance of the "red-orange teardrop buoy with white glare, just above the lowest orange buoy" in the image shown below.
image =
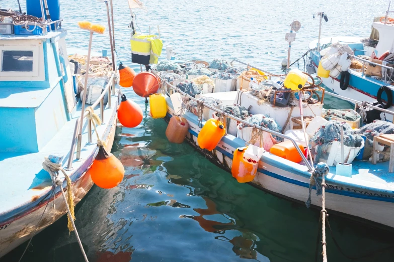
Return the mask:
<svg viewBox="0 0 394 262">
<path fill-rule="evenodd" d="M 135 127 L 141 123 L 143 118 L 142 109 L 134 101 L 128 100 L 122 94 L 122 102 L 118 108 L 119 122 L 126 127 Z"/>
</svg>

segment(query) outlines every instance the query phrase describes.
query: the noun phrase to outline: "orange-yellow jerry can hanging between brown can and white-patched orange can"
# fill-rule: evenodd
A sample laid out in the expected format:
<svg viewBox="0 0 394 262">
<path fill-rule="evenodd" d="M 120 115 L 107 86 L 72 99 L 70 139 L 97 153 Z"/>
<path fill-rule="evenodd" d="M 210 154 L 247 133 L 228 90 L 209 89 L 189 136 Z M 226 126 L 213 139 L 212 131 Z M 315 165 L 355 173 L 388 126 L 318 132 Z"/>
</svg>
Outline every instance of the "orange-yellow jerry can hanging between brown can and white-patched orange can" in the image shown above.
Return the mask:
<svg viewBox="0 0 394 262">
<path fill-rule="evenodd" d="M 212 151 L 225 134 L 226 128 L 223 123 L 218 119 L 211 118 L 201 128 L 197 137 L 197 143 L 200 148 Z"/>
</svg>

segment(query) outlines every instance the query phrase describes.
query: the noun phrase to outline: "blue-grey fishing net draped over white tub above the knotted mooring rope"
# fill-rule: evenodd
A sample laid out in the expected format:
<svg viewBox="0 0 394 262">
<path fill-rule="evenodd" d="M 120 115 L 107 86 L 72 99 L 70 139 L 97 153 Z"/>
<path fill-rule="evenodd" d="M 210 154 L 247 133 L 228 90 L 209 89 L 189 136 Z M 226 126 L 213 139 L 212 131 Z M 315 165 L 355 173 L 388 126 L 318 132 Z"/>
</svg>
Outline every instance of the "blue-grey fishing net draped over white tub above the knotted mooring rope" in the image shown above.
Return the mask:
<svg viewBox="0 0 394 262">
<path fill-rule="evenodd" d="M 352 127 L 343 124 L 343 144 L 351 148 L 359 148 L 362 146 L 364 140 L 362 137 L 354 132 Z M 330 120 L 322 125 L 312 138 L 314 145 L 317 145 L 314 162 L 321 159 L 323 150 L 333 141 L 341 141 L 341 122 L 337 120 Z"/>
</svg>

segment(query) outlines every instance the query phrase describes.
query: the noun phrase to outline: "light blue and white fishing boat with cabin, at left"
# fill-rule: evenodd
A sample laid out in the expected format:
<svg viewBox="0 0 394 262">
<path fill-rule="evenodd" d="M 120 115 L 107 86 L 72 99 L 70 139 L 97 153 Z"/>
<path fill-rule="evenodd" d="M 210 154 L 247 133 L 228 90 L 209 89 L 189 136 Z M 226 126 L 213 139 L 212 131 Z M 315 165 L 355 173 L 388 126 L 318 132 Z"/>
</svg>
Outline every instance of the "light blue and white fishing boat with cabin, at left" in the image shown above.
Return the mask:
<svg viewBox="0 0 394 262">
<path fill-rule="evenodd" d="M 38 1 L 33 7 L 37 6 Z M 9 12 L 1 15 L 5 13 Z M 98 152 L 97 143 L 111 150 L 120 102 L 117 75 L 108 58 L 90 49 L 85 57 L 70 53 L 60 18 L 50 20 L 47 13 L 47 20 L 29 16 L 36 22 L 16 24 L 23 16 L 17 13 L 10 15 L 14 20 L 0 25 L 4 29 L 0 35 L 0 256 L 67 213 L 63 188 L 73 196 L 73 204 L 86 196 L 94 184 L 87 171 Z M 85 95 L 75 98 L 82 94 L 78 79 L 84 77 L 77 72 L 81 64 L 69 62 L 69 55 L 83 58 L 86 79 L 91 55 L 97 56 L 96 65 L 104 60 L 105 75 L 92 78 L 102 80 L 96 96 L 93 84 L 89 82 L 91 89 L 86 88 L 87 80 L 82 86 Z M 101 124 L 96 126 L 92 115 Z M 56 181 L 44 167 L 46 158 L 59 164 Z M 68 186 L 66 177 L 71 182 Z"/>
</svg>

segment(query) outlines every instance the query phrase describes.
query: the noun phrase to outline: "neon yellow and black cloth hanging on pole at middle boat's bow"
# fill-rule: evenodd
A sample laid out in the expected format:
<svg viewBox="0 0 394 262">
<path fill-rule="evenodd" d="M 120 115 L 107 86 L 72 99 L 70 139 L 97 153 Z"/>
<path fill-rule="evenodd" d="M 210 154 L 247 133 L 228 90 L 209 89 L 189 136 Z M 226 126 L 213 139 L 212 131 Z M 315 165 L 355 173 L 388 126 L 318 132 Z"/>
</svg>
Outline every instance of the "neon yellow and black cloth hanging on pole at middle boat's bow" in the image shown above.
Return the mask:
<svg viewBox="0 0 394 262">
<path fill-rule="evenodd" d="M 163 49 L 163 41 L 159 37 L 135 34 L 130 44 L 131 62 L 141 65 L 157 64 Z"/>
</svg>

